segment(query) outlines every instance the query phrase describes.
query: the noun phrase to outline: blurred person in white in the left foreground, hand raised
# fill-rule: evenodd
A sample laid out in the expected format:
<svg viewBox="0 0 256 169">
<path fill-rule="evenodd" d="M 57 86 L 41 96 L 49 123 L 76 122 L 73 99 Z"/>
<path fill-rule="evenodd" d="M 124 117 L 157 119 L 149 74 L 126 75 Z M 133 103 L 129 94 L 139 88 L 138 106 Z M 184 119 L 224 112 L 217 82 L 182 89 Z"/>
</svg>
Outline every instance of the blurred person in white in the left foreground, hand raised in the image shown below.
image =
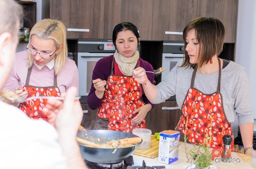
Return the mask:
<svg viewBox="0 0 256 169">
<path fill-rule="evenodd" d="M 22 7 L 13 0 L 0 1 L 0 90 L 8 80 L 18 44 Z M 31 120 L 20 109 L 0 102 L 0 168 L 86 168 L 75 140 L 82 108 L 75 87 L 64 102 L 48 100 L 43 112 L 52 119 Z M 58 114 L 56 114 L 58 113 Z"/>
</svg>

